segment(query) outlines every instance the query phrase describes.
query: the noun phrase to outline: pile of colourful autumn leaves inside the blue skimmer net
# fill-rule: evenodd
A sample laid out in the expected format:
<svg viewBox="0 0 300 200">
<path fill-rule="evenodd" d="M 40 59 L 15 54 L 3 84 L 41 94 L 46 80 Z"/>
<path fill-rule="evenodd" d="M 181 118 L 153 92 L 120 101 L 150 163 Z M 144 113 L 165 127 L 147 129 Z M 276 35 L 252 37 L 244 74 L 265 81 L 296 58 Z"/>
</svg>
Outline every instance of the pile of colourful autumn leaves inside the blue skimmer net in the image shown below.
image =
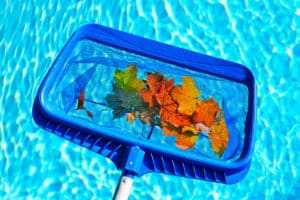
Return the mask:
<svg viewBox="0 0 300 200">
<path fill-rule="evenodd" d="M 176 146 L 186 150 L 195 146 L 199 132 L 205 132 L 213 151 L 223 155 L 229 140 L 223 110 L 212 97 L 200 100 L 192 77 L 183 76 L 182 85 L 161 73 L 147 73 L 141 80 L 136 66 L 130 65 L 117 69 L 114 80 L 113 94 L 105 97 L 113 118 L 157 125 L 166 136 L 176 136 Z"/>
</svg>

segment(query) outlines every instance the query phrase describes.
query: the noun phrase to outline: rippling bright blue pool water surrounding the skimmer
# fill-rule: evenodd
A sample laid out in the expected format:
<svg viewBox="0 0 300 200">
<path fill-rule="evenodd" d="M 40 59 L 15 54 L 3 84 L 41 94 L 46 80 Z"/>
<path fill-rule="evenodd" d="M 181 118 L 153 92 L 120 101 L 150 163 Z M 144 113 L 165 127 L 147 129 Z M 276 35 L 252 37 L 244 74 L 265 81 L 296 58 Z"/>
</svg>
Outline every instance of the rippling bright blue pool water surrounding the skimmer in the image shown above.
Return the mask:
<svg viewBox="0 0 300 200">
<path fill-rule="evenodd" d="M 1 199 L 109 199 L 114 192 L 121 172 L 112 162 L 39 129 L 31 117 L 51 63 L 86 23 L 239 62 L 257 81 L 256 144 L 244 180 L 147 174 L 135 179 L 131 199 L 299 196 L 299 1 L 66 2 L 0 2 Z"/>
</svg>

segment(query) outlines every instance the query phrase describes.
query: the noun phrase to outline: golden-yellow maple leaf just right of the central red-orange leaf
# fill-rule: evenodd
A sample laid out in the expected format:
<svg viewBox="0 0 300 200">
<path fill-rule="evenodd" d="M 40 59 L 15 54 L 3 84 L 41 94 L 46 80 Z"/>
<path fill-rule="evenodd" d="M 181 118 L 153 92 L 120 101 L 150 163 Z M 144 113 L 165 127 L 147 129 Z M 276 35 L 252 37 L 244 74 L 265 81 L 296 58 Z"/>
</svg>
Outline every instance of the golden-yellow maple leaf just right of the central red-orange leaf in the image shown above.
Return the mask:
<svg viewBox="0 0 300 200">
<path fill-rule="evenodd" d="M 184 115 L 192 115 L 197 109 L 200 92 L 192 77 L 183 76 L 182 81 L 183 85 L 176 86 L 171 94 L 173 99 L 179 104 L 178 112 Z"/>
</svg>

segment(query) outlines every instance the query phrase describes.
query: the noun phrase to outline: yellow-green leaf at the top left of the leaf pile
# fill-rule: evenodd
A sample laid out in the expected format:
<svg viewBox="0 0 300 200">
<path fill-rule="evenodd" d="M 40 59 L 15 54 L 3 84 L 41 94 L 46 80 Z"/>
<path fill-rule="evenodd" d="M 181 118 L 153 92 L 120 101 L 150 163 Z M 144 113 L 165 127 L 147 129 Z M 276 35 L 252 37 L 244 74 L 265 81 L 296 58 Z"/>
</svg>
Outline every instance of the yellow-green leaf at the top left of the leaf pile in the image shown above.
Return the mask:
<svg viewBox="0 0 300 200">
<path fill-rule="evenodd" d="M 145 82 L 136 77 L 137 69 L 135 65 L 128 66 L 124 71 L 117 69 L 114 79 L 115 86 L 123 89 L 125 92 L 140 92 L 145 87 Z"/>
</svg>

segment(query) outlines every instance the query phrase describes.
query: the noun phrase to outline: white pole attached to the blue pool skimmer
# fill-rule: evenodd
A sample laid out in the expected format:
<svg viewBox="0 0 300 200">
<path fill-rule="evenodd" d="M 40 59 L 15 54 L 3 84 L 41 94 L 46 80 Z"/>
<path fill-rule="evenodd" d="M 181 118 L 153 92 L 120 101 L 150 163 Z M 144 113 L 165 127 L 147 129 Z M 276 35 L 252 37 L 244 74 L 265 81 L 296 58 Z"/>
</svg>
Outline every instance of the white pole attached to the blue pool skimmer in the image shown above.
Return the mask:
<svg viewBox="0 0 300 200">
<path fill-rule="evenodd" d="M 132 177 L 128 177 L 126 175 L 122 176 L 119 180 L 119 185 L 113 199 L 127 200 L 131 192 L 132 184 L 133 184 Z"/>
</svg>

